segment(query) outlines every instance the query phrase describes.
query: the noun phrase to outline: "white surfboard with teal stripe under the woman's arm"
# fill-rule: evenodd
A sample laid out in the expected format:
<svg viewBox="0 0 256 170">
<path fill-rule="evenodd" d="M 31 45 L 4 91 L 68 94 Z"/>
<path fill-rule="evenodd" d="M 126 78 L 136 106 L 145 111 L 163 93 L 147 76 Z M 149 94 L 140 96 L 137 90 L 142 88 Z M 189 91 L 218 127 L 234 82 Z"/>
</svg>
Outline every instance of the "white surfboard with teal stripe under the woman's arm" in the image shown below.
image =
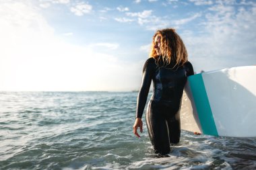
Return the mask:
<svg viewBox="0 0 256 170">
<path fill-rule="evenodd" d="M 212 136 L 256 137 L 256 66 L 189 76 L 181 129 Z"/>
</svg>

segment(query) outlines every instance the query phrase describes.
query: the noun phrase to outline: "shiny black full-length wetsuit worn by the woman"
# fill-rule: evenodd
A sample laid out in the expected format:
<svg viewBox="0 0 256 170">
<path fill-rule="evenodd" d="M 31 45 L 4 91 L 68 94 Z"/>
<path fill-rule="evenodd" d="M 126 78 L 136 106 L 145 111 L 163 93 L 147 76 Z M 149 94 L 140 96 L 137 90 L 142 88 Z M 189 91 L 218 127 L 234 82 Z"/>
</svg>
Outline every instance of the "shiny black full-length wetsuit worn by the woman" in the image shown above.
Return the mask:
<svg viewBox="0 0 256 170">
<path fill-rule="evenodd" d="M 193 67 L 189 61 L 174 67 L 158 65 L 154 58 L 148 58 L 143 67 L 143 79 L 137 98 L 136 118 L 141 118 L 148 98 L 150 84 L 153 80 L 154 91 L 148 104 L 146 124 L 155 153 L 170 153 L 170 143 L 178 143 L 181 136 L 179 111 L 183 89 Z"/>
</svg>

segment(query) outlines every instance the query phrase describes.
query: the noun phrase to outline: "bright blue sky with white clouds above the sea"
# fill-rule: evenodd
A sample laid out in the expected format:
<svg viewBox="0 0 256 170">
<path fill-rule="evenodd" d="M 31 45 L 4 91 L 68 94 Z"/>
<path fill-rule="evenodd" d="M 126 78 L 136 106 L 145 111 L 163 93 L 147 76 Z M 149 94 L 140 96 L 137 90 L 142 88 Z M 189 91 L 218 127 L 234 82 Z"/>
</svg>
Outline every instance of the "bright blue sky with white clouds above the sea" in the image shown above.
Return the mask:
<svg viewBox="0 0 256 170">
<path fill-rule="evenodd" d="M 133 91 L 158 29 L 195 72 L 256 65 L 256 1 L 0 0 L 0 91 Z"/>
</svg>

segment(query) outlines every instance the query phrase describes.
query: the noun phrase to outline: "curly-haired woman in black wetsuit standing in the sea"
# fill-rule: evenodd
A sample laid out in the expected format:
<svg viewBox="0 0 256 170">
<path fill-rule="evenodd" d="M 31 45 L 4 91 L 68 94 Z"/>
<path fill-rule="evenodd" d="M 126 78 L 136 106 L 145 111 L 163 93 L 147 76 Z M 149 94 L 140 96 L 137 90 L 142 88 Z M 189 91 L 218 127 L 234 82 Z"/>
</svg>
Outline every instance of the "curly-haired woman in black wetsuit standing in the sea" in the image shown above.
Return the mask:
<svg viewBox="0 0 256 170">
<path fill-rule="evenodd" d="M 155 153 L 170 153 L 170 143 L 180 140 L 181 98 L 187 77 L 193 74 L 187 50 L 177 32 L 172 28 L 158 30 L 153 36 L 150 58 L 143 67 L 133 125 L 133 133 L 140 138 L 137 128 L 142 132 L 141 117 L 153 80 L 154 91 L 146 112 L 146 124 Z"/>
</svg>

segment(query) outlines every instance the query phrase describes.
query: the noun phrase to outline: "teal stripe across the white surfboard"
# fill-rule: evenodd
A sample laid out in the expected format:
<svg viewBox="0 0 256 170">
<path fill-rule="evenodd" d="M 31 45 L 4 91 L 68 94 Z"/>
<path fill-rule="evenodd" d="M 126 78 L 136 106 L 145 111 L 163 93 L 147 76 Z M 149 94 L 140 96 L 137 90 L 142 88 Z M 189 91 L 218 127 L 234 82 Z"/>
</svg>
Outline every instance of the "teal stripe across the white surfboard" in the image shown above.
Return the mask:
<svg viewBox="0 0 256 170">
<path fill-rule="evenodd" d="M 203 134 L 218 136 L 218 131 L 212 116 L 212 109 L 207 97 L 203 77 L 200 74 L 190 76 L 188 78 L 195 106 L 197 107 L 197 114 L 201 124 Z"/>
</svg>

